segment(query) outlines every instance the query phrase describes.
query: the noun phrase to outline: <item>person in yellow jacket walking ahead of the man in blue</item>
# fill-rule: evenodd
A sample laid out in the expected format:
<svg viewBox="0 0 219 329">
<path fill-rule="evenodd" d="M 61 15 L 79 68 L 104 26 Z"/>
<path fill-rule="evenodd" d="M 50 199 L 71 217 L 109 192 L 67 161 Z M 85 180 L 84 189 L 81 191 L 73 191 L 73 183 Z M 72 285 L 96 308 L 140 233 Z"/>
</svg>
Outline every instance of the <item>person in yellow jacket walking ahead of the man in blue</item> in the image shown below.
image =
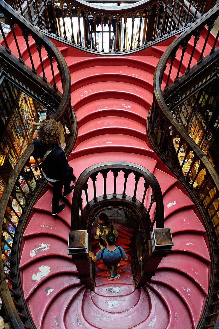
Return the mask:
<svg viewBox="0 0 219 329">
<path fill-rule="evenodd" d="M 106 240 L 106 236 L 109 232 L 114 233 L 116 239 L 118 238 L 118 231 L 115 225 L 110 223 L 108 215 L 105 213 L 100 213 L 98 218 L 97 232 L 96 235 L 94 235 L 94 239 L 100 241 L 99 246 L 101 249 L 104 247 L 104 241 Z"/>
</svg>

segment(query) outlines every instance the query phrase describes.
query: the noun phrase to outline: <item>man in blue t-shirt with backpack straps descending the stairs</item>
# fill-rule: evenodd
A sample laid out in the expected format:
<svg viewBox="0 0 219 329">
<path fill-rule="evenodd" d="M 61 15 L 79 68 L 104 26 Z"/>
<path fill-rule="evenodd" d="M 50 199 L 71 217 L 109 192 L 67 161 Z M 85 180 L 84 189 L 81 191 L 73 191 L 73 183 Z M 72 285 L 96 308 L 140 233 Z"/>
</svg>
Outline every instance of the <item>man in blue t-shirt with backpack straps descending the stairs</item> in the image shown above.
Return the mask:
<svg viewBox="0 0 219 329">
<path fill-rule="evenodd" d="M 110 270 L 111 272 L 110 279 L 115 278 L 117 274 L 116 268 L 118 263 L 121 261 L 121 258 L 123 258 L 124 261 L 128 260 L 128 256 L 126 256 L 124 249 L 122 247 L 116 246 L 115 241 L 115 235 L 112 232 L 109 232 L 106 236 L 107 246 L 103 249 L 100 249 L 96 253 L 96 256 L 91 251 L 88 253 L 89 257 L 91 257 L 94 262 L 97 262 L 100 259 L 103 260 L 106 269 Z"/>
</svg>

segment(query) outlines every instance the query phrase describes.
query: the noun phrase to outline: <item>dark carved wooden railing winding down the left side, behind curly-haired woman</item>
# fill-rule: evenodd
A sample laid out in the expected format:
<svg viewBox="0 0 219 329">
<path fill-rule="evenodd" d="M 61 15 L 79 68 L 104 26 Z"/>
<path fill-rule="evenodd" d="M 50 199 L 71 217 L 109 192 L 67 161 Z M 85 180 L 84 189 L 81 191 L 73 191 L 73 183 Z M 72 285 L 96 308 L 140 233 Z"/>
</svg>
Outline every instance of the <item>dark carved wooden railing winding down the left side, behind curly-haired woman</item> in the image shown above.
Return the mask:
<svg viewBox="0 0 219 329">
<path fill-rule="evenodd" d="M 65 152 L 69 155 L 77 139 L 77 119 L 70 103 L 71 78 L 68 66 L 57 47 L 2 0 L 0 1 L 0 10 L 4 13 L 10 23 L 12 29 L 11 37 L 15 41 L 19 54 L 19 57 L 16 56 L 16 54 L 12 54 L 0 24 L 0 30 L 2 31 L 4 38 L 2 45 L 0 45 L 1 73 L 11 81 L 16 81 L 16 84 L 21 86 L 20 88 L 22 88 L 24 92 L 28 93 L 31 97 L 34 97 L 42 106 L 44 106 L 47 109 L 47 116 L 49 118 L 61 122 L 66 143 Z M 27 58 L 25 59 L 22 57 L 15 29 L 16 32 L 20 29 L 22 37 L 26 42 L 28 58 L 31 60 L 31 67 L 26 65 Z M 35 43 L 33 43 L 33 40 Z M 39 54 L 40 67 L 35 66 L 32 57 L 32 54 L 36 51 Z M 43 51 L 44 54 L 46 51 L 47 54 L 47 58 L 44 56 L 43 61 L 41 51 Z M 51 67 L 51 72 L 48 72 L 47 70 L 48 76 L 45 75 L 44 71 L 46 61 L 47 64 L 50 63 Z M 60 73 L 59 78 L 57 75 L 55 76 L 54 68 L 56 66 Z M 51 81 L 52 84 L 48 82 L 51 76 L 53 77 Z M 59 88 L 57 88 L 57 83 L 60 85 Z M 68 133 L 66 132 L 66 128 L 69 130 Z M 0 227 L 2 232 L 0 237 L 0 247 L 1 254 L 5 256 L 4 262 L 2 257 L 0 258 L 0 294 L 5 312 L 3 312 L 4 316 L 6 316 L 11 322 L 12 328 L 35 328 L 31 317 L 28 316 L 29 311 L 27 310 L 23 298 L 19 270 L 17 270 L 19 269 L 21 238 L 26 221 L 31 213 L 33 205 L 47 184 L 47 181 L 43 179 L 43 177 L 40 180 L 37 180 L 33 173 L 29 162 L 31 155 L 33 154 L 33 149 L 33 143 L 31 143 L 12 171 L 0 200 Z M 33 184 L 31 185 L 30 179 L 27 177 L 27 171 L 24 170 L 25 166 L 29 167 L 29 174 L 33 178 Z M 25 193 L 22 189 L 22 185 L 19 181 L 20 176 L 22 176 L 23 182 L 26 183 L 27 190 L 29 190 L 28 193 Z M 20 200 L 16 197 L 16 190 L 22 193 L 23 198 L 26 201 L 25 206 L 21 204 Z M 21 214 L 18 214 L 12 207 L 11 197 L 14 198 L 20 206 Z M 13 211 L 18 218 L 17 226 L 10 218 L 11 211 Z M 9 224 L 12 225 L 15 231 L 14 235 L 8 230 Z M 5 237 L 3 236 L 4 232 L 6 232 L 13 240 L 12 246 L 5 240 Z M 4 245 L 7 246 L 10 252 L 6 252 L 2 249 L 2 246 Z"/>
</svg>

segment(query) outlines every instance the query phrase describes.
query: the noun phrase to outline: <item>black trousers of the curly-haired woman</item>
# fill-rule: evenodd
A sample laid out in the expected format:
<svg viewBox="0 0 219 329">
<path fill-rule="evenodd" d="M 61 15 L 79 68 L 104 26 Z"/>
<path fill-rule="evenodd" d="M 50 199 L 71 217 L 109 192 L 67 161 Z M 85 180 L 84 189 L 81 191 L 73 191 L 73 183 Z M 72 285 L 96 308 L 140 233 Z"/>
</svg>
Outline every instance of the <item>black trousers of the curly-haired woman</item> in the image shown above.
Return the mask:
<svg viewBox="0 0 219 329">
<path fill-rule="evenodd" d="M 73 174 L 73 168 L 68 166 L 68 170 Z M 75 177 L 76 178 L 76 177 Z M 55 214 L 58 212 L 59 201 L 61 199 L 61 191 L 64 185 L 64 193 L 68 193 L 70 191 L 71 179 L 65 178 L 64 180 L 60 180 L 58 182 L 51 183 L 53 186 L 53 207 L 52 212 Z"/>
</svg>

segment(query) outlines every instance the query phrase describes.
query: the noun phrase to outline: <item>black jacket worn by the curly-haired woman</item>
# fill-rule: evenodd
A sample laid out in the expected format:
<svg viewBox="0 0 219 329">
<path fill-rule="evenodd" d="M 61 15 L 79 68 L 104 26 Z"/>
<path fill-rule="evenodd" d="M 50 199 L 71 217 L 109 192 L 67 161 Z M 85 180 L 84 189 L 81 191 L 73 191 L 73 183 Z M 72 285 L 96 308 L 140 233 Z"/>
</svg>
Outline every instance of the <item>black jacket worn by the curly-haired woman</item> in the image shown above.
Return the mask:
<svg viewBox="0 0 219 329">
<path fill-rule="evenodd" d="M 57 145 L 57 148 L 52 150 L 43 161 L 41 167 L 48 178 L 64 180 L 66 178 L 74 181 L 75 176 L 68 170 L 68 161 L 65 157 L 65 152 Z M 39 139 L 34 141 L 34 156 L 43 158 L 48 149 L 39 143 Z"/>
</svg>

